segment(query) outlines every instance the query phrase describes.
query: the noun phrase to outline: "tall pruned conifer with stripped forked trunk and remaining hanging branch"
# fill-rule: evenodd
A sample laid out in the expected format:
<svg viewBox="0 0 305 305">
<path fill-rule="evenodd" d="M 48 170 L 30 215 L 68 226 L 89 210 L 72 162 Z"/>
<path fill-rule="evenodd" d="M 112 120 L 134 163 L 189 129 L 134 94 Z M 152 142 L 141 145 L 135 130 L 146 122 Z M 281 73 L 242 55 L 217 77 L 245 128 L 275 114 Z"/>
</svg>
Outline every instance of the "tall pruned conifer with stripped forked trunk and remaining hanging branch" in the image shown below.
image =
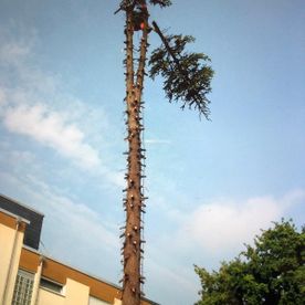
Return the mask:
<svg viewBox="0 0 305 305">
<path fill-rule="evenodd" d="M 123 244 L 123 304 L 138 305 L 141 297 L 141 273 L 143 256 L 143 222 L 141 214 L 145 212 L 144 158 L 145 150 L 141 143 L 144 130 L 141 112 L 144 107 L 143 88 L 144 78 L 149 75 L 164 77 L 164 90 L 169 101 L 181 102 L 181 108 L 188 106 L 209 118 L 209 99 L 207 94 L 211 91 L 210 83 L 213 70 L 210 67 L 210 59 L 203 53 L 188 53 L 186 46 L 193 42 L 192 36 L 165 35 L 155 21 L 149 21 L 147 6 L 169 7 L 170 0 L 123 0 L 118 10 L 126 15 L 125 25 L 125 50 L 126 57 L 126 125 L 128 150 L 127 172 L 125 178 L 127 186 L 124 191 L 124 208 L 126 211 L 126 225 L 124 225 L 122 238 Z M 140 33 L 138 45 L 135 45 L 134 34 Z M 149 73 L 146 74 L 148 36 L 150 33 L 160 36 L 161 45 L 157 48 L 149 57 Z"/>
</svg>

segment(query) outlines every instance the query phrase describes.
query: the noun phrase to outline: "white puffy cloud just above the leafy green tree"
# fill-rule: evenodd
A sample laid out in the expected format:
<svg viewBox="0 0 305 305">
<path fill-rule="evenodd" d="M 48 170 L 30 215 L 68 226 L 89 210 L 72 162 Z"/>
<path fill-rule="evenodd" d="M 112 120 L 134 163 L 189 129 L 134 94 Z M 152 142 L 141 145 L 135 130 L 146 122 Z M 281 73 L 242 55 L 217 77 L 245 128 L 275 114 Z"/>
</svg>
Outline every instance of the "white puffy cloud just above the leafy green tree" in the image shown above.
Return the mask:
<svg viewBox="0 0 305 305">
<path fill-rule="evenodd" d="M 251 243 L 260 229 L 280 220 L 301 199 L 305 199 L 304 191 L 294 191 L 281 199 L 261 197 L 245 202 L 220 200 L 202 204 L 185 218 L 180 234 L 189 246 L 194 243 L 210 253 L 230 252 Z"/>
</svg>

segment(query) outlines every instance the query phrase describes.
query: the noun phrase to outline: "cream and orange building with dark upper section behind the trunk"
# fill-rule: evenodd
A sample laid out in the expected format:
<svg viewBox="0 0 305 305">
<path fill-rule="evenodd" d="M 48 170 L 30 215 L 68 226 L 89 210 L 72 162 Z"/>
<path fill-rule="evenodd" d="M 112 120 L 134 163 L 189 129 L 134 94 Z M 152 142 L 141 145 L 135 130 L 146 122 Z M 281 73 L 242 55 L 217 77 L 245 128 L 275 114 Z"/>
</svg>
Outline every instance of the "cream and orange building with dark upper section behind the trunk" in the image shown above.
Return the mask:
<svg viewBox="0 0 305 305">
<path fill-rule="evenodd" d="M 40 253 L 42 222 L 40 212 L 0 194 L 0 304 L 122 304 L 119 286 Z"/>
</svg>

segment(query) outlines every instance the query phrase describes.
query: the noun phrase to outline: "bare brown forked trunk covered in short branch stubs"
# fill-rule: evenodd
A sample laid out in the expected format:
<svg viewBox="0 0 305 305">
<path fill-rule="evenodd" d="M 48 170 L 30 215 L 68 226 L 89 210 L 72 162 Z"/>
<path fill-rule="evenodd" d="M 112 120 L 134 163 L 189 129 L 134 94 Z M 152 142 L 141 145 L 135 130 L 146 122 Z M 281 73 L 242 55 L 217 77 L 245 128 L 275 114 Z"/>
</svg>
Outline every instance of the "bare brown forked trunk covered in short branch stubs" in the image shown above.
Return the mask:
<svg viewBox="0 0 305 305">
<path fill-rule="evenodd" d="M 144 6 L 146 4 L 143 1 Z M 141 213 L 145 208 L 143 193 L 143 159 L 141 145 L 141 93 L 145 75 L 145 62 L 147 52 L 147 20 L 145 8 L 145 27 L 140 40 L 137 73 L 134 70 L 134 8 L 126 9 L 126 114 L 127 114 L 127 189 L 124 206 L 126 210 L 126 227 L 123 245 L 123 305 L 139 305 L 141 296 Z"/>
</svg>

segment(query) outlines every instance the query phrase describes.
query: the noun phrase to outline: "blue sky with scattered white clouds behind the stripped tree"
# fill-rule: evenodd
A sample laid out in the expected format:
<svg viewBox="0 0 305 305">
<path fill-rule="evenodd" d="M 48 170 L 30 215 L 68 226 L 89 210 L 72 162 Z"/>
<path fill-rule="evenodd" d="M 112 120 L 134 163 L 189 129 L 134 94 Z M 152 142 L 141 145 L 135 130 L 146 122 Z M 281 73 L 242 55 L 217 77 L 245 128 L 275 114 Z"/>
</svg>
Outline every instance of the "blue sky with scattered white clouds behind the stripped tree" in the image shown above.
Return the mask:
<svg viewBox="0 0 305 305">
<path fill-rule="evenodd" d="M 282 217 L 304 223 L 305 3 L 173 1 L 152 9 L 212 59 L 211 122 L 145 87 L 145 292 L 192 304 Z M 113 0 L 0 0 L 0 192 L 45 214 L 46 254 L 117 283 L 124 223 L 124 17 Z M 159 45 L 150 36 L 151 49 Z"/>
</svg>

